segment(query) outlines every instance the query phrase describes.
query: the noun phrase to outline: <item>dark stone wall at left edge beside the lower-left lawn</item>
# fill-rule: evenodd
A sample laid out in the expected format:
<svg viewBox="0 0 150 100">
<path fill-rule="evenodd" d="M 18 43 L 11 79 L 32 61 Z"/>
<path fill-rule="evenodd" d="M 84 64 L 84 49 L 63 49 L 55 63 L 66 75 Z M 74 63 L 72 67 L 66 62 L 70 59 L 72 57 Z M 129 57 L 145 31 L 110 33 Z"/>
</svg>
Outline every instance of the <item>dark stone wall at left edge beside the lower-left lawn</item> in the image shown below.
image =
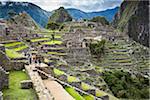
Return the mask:
<svg viewBox="0 0 150 100">
<path fill-rule="evenodd" d="M 0 67 L 0 91 L 9 86 L 9 73 Z"/>
</svg>

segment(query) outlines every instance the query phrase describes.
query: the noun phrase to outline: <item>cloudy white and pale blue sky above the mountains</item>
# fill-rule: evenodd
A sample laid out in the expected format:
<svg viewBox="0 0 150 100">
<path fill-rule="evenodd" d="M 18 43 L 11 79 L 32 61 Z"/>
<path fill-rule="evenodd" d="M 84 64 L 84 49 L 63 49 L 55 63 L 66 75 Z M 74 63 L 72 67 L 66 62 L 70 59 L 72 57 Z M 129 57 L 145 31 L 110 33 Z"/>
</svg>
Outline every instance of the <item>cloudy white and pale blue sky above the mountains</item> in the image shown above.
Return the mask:
<svg viewBox="0 0 150 100">
<path fill-rule="evenodd" d="M 102 11 L 119 6 L 123 0 L 0 0 L 31 2 L 44 10 L 52 11 L 60 6 L 65 8 L 77 8 L 85 12 Z"/>
</svg>

